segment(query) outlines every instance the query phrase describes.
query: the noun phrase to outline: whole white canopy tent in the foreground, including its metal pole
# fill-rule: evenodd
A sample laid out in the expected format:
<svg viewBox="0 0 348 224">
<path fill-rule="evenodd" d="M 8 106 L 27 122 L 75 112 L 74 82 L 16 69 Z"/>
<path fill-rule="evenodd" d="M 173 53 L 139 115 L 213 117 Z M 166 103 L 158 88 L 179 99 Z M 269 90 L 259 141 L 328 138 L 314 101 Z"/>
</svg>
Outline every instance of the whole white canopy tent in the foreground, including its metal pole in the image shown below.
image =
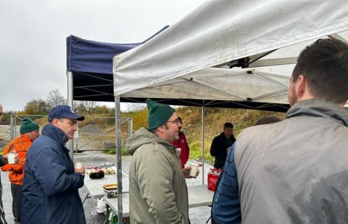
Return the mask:
<svg viewBox="0 0 348 224">
<path fill-rule="evenodd" d="M 277 49 L 291 50 L 293 45 L 325 36 L 347 41 L 338 34 L 346 30 L 346 0 L 211 0 L 147 43 L 116 55 L 113 74 L 118 170 L 120 98 L 133 102 L 155 98 L 203 109 L 231 104 L 265 110 L 274 105 L 287 108 L 291 70 L 277 75 L 269 72 L 271 67 L 251 68 L 294 64 L 298 52 L 293 57 L 269 56 Z"/>
</svg>

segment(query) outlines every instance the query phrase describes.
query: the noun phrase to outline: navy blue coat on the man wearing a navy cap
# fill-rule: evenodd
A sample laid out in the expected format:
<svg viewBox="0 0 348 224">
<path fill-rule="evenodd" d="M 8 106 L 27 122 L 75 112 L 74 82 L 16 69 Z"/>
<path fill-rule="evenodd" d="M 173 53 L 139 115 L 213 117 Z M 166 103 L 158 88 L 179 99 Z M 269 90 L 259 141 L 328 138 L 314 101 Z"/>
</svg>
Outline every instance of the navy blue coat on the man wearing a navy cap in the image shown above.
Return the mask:
<svg viewBox="0 0 348 224">
<path fill-rule="evenodd" d="M 75 173 L 65 146 L 66 134 L 47 124 L 31 144 L 24 167 L 22 224 L 86 224 L 79 188 L 84 176 Z"/>
</svg>

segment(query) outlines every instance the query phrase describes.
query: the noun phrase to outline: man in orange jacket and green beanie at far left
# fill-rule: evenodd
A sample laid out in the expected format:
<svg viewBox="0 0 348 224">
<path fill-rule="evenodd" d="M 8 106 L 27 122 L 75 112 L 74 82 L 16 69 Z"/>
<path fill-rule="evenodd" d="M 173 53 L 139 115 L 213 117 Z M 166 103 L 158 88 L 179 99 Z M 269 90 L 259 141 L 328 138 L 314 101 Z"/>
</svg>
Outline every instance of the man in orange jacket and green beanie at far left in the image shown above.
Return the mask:
<svg viewBox="0 0 348 224">
<path fill-rule="evenodd" d="M 21 192 L 23 185 L 24 163 L 26 153 L 31 143 L 40 135 L 39 125 L 28 117 L 25 117 L 20 125 L 20 135 L 14 138 L 3 150 L 3 154 L 17 151 L 18 163 L 6 164 L 1 167 L 2 171 L 9 171 L 8 179 L 11 182 L 12 213 L 14 222 L 20 222 Z"/>
</svg>

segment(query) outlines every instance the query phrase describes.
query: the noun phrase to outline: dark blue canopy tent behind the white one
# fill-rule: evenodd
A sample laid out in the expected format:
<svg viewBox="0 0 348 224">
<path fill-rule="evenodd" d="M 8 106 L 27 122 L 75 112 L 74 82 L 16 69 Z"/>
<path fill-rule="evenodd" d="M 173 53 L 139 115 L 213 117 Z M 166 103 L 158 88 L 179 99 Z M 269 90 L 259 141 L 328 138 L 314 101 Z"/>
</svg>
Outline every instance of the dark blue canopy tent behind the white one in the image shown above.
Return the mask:
<svg viewBox="0 0 348 224">
<path fill-rule="evenodd" d="M 147 42 L 168 27 L 163 27 L 141 43 L 131 44 L 104 43 L 68 36 L 68 93 L 72 90 L 71 94 L 68 94 L 68 101 L 114 102 L 112 58 Z"/>
</svg>

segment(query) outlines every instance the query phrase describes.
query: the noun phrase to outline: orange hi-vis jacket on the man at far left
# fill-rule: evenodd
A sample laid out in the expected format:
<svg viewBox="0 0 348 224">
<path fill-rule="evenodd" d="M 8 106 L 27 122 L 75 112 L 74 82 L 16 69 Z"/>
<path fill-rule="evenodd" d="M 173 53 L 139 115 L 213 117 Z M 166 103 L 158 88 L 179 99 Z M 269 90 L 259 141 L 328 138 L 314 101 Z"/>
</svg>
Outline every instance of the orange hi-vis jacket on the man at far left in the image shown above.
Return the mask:
<svg viewBox="0 0 348 224">
<path fill-rule="evenodd" d="M 18 163 L 1 166 L 2 171 L 9 171 L 8 179 L 12 184 L 23 185 L 25 156 L 30 145 L 30 138 L 21 134 L 19 137 L 14 138 L 10 143 L 8 143 L 3 150 L 4 155 L 13 150 L 16 150 L 18 153 Z"/>
</svg>

